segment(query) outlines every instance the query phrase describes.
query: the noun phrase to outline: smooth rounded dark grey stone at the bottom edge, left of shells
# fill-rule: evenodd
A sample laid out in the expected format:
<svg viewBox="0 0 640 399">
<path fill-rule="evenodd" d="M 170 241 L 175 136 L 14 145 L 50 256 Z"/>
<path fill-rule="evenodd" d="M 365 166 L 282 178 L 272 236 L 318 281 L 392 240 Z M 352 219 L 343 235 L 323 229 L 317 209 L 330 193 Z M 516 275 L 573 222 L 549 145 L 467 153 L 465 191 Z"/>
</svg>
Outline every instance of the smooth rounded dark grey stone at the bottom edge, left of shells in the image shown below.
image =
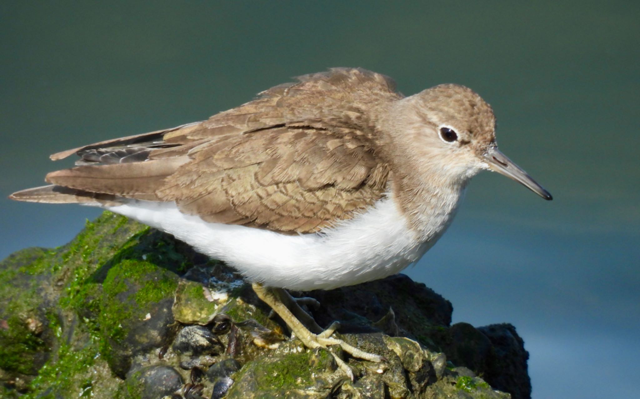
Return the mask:
<svg viewBox="0 0 640 399">
<path fill-rule="evenodd" d="M 148 366 L 127 375 L 127 390 L 132 397 L 158 399 L 182 387 L 182 377 L 169 366 Z"/>
</svg>

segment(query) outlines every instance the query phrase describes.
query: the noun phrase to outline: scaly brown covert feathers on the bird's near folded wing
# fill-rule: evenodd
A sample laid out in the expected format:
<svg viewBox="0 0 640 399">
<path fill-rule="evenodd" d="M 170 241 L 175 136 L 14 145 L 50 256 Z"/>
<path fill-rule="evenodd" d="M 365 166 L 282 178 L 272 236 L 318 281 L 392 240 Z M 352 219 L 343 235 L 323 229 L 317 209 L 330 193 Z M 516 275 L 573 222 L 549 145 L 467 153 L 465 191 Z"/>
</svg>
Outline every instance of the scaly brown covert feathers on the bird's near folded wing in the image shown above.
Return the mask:
<svg viewBox="0 0 640 399">
<path fill-rule="evenodd" d="M 380 199 L 387 177 L 354 136 L 279 127 L 197 152 L 156 194 L 206 221 L 308 233 Z"/>
</svg>

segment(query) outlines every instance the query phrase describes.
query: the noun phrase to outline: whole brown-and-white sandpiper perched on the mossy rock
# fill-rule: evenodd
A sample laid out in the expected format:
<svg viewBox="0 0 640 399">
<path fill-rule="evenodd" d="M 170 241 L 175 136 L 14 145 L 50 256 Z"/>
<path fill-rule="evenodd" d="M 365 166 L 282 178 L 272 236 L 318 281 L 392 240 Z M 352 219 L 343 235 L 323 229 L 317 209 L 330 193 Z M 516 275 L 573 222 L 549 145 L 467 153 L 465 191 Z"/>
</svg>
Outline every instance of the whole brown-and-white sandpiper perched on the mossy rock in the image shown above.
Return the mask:
<svg viewBox="0 0 640 399">
<path fill-rule="evenodd" d="M 359 68 L 304 75 L 206 121 L 51 155 L 79 156 L 13 200 L 106 208 L 235 267 L 308 348 L 340 345 L 284 288 L 331 289 L 419 260 L 482 169 L 551 195 L 495 143 L 491 107 L 441 84 L 404 97 Z M 333 353 L 333 352 L 332 352 Z M 333 355 L 344 372 L 349 367 Z"/>
</svg>

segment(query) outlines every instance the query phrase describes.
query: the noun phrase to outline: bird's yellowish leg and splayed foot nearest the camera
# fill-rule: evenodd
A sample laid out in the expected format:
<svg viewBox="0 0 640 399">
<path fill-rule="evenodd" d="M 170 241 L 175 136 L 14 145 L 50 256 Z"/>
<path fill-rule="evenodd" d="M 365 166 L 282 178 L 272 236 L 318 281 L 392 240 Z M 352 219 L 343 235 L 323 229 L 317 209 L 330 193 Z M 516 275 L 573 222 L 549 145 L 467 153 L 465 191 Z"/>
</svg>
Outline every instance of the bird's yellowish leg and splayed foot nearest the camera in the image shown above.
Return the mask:
<svg viewBox="0 0 640 399">
<path fill-rule="evenodd" d="M 271 309 L 278 313 L 278 316 L 280 316 L 282 320 L 284 320 L 284 322 L 289 326 L 292 333 L 296 337 L 298 337 L 303 344 L 305 344 L 305 347 L 314 349 L 328 348 L 331 345 L 340 345 L 344 352 L 347 352 L 353 357 L 358 357 L 360 359 L 365 359 L 376 363 L 382 361 L 383 357 L 380 355 L 364 352 L 364 350 L 352 347 L 342 340 L 331 338 L 331 335 L 335 332 L 337 327 L 339 327 L 339 324 L 334 322 L 328 329 L 326 329 L 322 333 L 314 334 L 309 331 L 307 327 L 305 327 L 305 325 L 303 325 L 300 320 L 298 320 L 298 318 L 293 315 L 293 313 L 291 313 L 291 311 L 287 308 L 287 306 L 285 306 L 282 300 L 280 300 L 278 296 L 276 296 L 275 293 L 273 293 L 271 289 L 269 289 L 269 287 L 266 287 L 259 283 L 253 283 L 252 287 L 253 291 L 255 291 L 258 297 L 262 299 L 262 301 L 266 302 L 266 304 L 271 306 Z M 349 368 L 349 366 L 344 363 L 344 361 L 340 359 L 340 357 L 334 354 L 332 350 L 329 350 L 329 352 L 333 355 L 335 363 L 338 364 L 340 370 L 346 373 L 346 375 L 348 375 L 349 378 L 353 380 L 353 372 L 351 371 L 351 368 Z"/>
</svg>

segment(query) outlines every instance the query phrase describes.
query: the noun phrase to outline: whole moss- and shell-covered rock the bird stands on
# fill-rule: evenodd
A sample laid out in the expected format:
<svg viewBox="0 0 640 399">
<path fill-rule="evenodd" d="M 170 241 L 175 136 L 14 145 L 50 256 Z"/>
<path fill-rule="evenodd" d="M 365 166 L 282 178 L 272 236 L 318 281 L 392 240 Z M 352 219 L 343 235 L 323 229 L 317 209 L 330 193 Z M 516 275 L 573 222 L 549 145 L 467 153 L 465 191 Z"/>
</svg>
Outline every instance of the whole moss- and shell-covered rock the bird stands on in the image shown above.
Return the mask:
<svg viewBox="0 0 640 399">
<path fill-rule="evenodd" d="M 331 348 L 353 370 L 349 380 L 329 350 L 287 339 L 232 269 L 105 212 L 66 246 L 0 263 L 0 397 L 531 394 L 512 325 L 451 325 L 451 303 L 406 276 L 293 294 L 321 303 L 309 309 L 318 324 L 339 320 L 339 338 L 387 361 Z"/>
</svg>

